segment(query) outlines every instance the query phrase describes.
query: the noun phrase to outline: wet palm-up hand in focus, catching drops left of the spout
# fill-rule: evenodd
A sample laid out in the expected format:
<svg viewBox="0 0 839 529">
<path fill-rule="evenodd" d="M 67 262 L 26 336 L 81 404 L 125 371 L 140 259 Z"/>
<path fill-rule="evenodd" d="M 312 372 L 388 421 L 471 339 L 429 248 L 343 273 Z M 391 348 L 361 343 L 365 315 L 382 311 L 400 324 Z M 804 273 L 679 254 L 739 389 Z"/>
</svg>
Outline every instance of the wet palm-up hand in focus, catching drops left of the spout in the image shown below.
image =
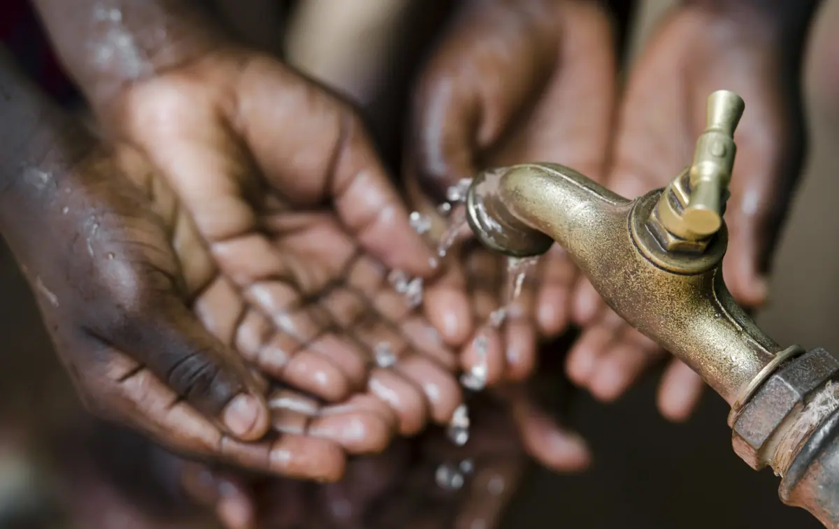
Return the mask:
<svg viewBox="0 0 839 529">
<path fill-rule="evenodd" d="M 305 409 L 341 415 L 295 428 L 359 453 L 450 419 L 456 355 L 418 283 L 433 254 L 349 106 L 273 58 L 224 48 L 133 83 L 102 113 L 174 189 L 172 215 L 194 220 L 195 239 L 175 244 L 195 250 L 185 266 L 201 321 L 320 401 Z M 414 277 L 402 292 L 393 271 Z"/>
</svg>

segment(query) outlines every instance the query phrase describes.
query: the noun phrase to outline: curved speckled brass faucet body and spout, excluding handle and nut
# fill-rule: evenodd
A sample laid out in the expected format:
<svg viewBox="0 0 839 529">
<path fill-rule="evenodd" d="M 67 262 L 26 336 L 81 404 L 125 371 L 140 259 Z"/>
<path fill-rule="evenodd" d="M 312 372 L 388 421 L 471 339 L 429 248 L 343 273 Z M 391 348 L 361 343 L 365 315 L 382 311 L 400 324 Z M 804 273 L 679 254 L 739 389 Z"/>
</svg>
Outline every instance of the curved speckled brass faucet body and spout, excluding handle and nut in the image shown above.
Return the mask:
<svg viewBox="0 0 839 529">
<path fill-rule="evenodd" d="M 529 163 L 477 177 L 467 210 L 495 251 L 533 256 L 556 241 L 612 309 L 734 406 L 783 348 L 728 293 L 724 228 L 701 256 L 659 245 L 647 220 L 660 195 L 627 200 L 573 169 Z"/>
</svg>

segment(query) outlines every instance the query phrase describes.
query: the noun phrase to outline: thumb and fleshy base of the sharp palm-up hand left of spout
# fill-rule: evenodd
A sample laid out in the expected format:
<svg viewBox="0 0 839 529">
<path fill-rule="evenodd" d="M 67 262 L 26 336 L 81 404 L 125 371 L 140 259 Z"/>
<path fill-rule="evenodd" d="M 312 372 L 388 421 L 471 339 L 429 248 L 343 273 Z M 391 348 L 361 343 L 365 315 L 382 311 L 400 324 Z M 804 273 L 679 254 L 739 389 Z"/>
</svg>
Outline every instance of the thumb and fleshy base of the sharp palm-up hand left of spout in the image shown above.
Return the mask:
<svg viewBox="0 0 839 529">
<path fill-rule="evenodd" d="M 239 86 L 232 122 L 281 194 L 295 204 L 331 200 L 347 231 L 388 267 L 433 272 L 430 250 L 349 107 L 268 56 L 251 60 Z M 279 128 L 289 124 L 293 132 Z"/>
</svg>

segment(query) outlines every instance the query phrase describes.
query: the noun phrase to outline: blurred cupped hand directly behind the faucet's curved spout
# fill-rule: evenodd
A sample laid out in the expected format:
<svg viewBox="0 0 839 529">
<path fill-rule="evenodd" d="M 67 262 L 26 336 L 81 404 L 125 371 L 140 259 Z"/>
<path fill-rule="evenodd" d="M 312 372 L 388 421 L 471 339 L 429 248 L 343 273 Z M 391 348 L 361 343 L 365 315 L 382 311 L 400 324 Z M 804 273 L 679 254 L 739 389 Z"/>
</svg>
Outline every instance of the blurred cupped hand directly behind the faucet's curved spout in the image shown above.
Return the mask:
<svg viewBox="0 0 839 529">
<path fill-rule="evenodd" d="M 602 176 L 615 91 L 609 20 L 596 3 L 469 3 L 435 51 L 414 96 L 407 179 L 414 205 L 435 215 L 446 189 L 487 167 L 558 162 Z M 456 213 L 456 212 L 453 212 Z M 444 220 L 435 217 L 437 233 Z M 498 329 L 487 324 L 513 281 L 506 258 L 475 245 L 455 250 L 428 298 L 451 307 L 435 326 L 469 344 L 466 371 L 487 384 L 534 370 L 540 337 L 569 323 L 576 269 L 560 248 L 543 257 Z M 433 314 L 431 316 L 434 316 Z M 477 340 L 480 338 L 480 340 Z"/>
</svg>

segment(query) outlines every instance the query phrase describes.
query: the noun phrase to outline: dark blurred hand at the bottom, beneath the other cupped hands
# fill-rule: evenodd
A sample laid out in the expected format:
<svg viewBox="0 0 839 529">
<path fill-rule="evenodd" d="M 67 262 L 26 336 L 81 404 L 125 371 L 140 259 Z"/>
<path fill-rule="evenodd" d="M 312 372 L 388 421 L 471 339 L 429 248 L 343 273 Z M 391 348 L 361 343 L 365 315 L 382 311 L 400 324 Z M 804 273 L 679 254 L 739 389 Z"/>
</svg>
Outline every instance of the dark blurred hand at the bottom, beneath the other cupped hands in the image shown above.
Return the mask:
<svg viewBox="0 0 839 529">
<path fill-rule="evenodd" d="M 519 489 L 526 458 L 510 435 L 508 407 L 473 402 L 471 438 L 457 447 L 440 431 L 400 439 L 354 459 L 329 485 L 265 479 L 189 464 L 188 494 L 227 529 L 253 527 L 497 527 Z"/>
</svg>

